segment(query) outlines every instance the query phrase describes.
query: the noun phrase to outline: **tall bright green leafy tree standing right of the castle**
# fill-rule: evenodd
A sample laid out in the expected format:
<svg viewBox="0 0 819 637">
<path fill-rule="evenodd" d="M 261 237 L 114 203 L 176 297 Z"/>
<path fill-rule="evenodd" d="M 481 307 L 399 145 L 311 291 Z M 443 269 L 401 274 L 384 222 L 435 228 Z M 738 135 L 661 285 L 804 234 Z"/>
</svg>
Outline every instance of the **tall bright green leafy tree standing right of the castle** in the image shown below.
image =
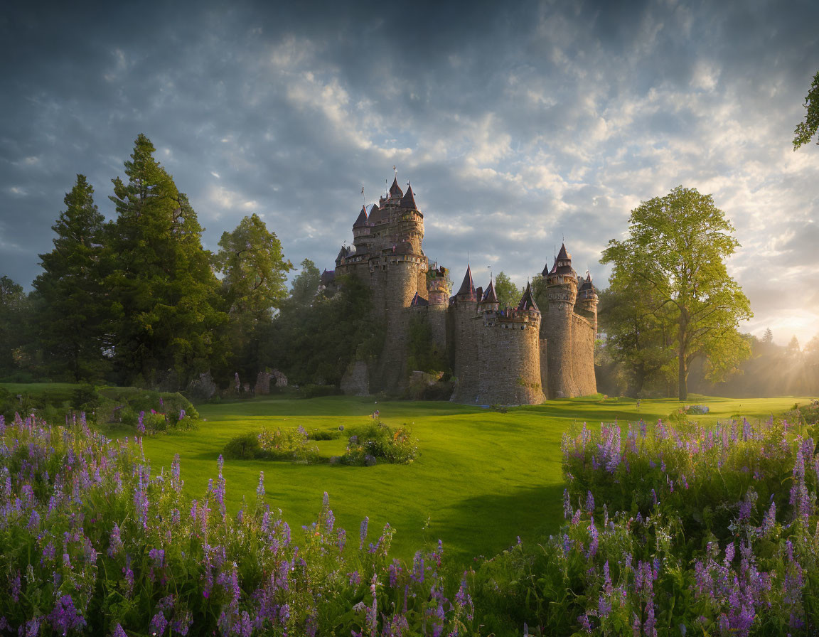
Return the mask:
<svg viewBox="0 0 819 637">
<path fill-rule="evenodd" d="M 603 252 L 601 263 L 613 264 L 612 293 L 647 290 L 654 300 L 645 312 L 672 327 L 680 400 L 694 359 L 704 357 L 708 377 L 718 379 L 749 355 L 738 326 L 753 314 L 725 264 L 739 246 L 733 232 L 710 195 L 679 186 L 631 210 L 629 236 Z"/>
</svg>

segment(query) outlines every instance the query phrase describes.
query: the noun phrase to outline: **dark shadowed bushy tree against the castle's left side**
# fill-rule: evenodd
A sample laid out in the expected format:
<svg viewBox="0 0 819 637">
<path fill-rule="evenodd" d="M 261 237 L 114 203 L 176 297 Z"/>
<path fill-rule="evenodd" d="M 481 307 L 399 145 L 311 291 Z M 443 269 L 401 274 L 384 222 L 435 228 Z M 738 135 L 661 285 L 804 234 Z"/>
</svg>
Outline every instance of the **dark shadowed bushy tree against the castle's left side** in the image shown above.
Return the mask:
<svg viewBox="0 0 819 637">
<path fill-rule="evenodd" d="M 338 385 L 354 360 L 371 359 L 382 347 L 383 323 L 373 318 L 372 292 L 355 277 L 339 277 L 341 289 L 311 306 L 285 302 L 261 346 L 269 364 L 289 382 Z"/>
</svg>

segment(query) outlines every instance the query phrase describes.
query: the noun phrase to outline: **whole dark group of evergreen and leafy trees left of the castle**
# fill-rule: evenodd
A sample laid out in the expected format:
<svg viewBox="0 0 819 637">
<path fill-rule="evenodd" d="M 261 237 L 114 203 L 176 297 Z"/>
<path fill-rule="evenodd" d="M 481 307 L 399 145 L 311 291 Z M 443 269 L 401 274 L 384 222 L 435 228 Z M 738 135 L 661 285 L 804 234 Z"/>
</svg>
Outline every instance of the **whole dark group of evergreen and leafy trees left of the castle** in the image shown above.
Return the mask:
<svg viewBox="0 0 819 637">
<path fill-rule="evenodd" d="M 109 382 L 177 391 L 210 372 L 279 368 L 296 383 L 337 383 L 378 330 L 369 294 L 355 282 L 315 296 L 319 270 L 293 269 L 259 215 L 203 249 L 188 197 L 139 135 L 112 179 L 116 218 L 106 220 L 77 175 L 39 255 L 33 291 L 0 277 L 0 380 Z"/>
</svg>

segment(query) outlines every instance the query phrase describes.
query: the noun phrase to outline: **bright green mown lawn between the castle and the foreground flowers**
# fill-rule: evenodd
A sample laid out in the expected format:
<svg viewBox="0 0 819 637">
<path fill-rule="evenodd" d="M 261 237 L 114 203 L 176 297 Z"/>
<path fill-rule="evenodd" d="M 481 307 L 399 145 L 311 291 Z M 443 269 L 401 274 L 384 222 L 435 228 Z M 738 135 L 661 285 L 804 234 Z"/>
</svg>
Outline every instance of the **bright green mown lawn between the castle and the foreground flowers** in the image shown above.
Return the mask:
<svg viewBox="0 0 819 637">
<path fill-rule="evenodd" d="M 731 400 L 693 396 L 686 404 L 708 404 L 712 422 L 742 413 L 767 418 L 794 402 L 807 399 Z M 256 496 L 259 472 L 265 472 L 266 498 L 298 528 L 314 521 L 324 491 L 337 524 L 358 541 L 362 518 L 370 518 L 371 537 L 386 522 L 396 529 L 393 552 L 408 558 L 424 542 L 443 540 L 459 561 L 491 556 L 516 542 L 554 533 L 563 522 L 563 478 L 560 440 L 572 422 L 599 425 L 615 418 L 665 418 L 676 400 L 554 400 L 546 404 L 496 413 L 486 409 L 433 402 L 382 402 L 328 397 L 313 400 L 267 399 L 201 405 L 199 431 L 145 438 L 145 454 L 155 467 L 182 459 L 185 489 L 192 497 L 206 492 L 216 474 L 224 444 L 261 427 L 337 430 L 339 425 L 367 422 L 379 409 L 384 422 L 410 423 L 419 439 L 420 455 L 409 465 L 379 464 L 373 468 L 301 465 L 228 460 L 224 464 L 229 507 L 237 511 L 242 495 Z M 340 454 L 345 440 L 318 441 L 327 456 Z"/>
</svg>

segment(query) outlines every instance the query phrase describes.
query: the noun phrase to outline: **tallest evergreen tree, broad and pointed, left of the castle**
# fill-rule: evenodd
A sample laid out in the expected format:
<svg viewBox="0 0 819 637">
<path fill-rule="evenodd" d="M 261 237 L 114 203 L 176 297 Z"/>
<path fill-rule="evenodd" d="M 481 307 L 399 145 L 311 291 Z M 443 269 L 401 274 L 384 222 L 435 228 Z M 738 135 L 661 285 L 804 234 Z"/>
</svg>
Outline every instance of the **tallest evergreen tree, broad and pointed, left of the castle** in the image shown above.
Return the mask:
<svg viewBox="0 0 819 637">
<path fill-rule="evenodd" d="M 183 384 L 224 355 L 227 316 L 197 215 L 154 151 L 140 134 L 124 163 L 128 180 L 113 180 L 115 363 L 120 381 L 152 384 L 173 372 Z"/>
</svg>

